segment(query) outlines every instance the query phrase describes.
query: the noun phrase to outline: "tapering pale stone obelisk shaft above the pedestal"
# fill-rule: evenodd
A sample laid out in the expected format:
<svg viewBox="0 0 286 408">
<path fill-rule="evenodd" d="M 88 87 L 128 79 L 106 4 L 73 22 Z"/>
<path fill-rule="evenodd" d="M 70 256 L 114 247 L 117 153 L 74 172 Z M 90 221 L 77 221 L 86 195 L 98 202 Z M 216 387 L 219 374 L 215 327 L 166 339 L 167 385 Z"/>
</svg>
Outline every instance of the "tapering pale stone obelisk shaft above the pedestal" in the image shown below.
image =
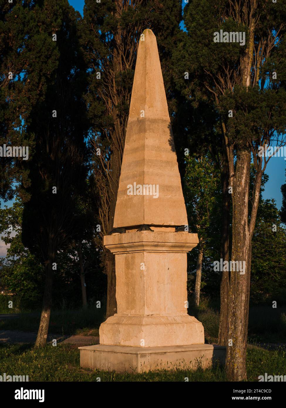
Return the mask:
<svg viewBox="0 0 286 408">
<path fill-rule="evenodd" d="M 157 42 L 149 29 L 144 36 L 138 48 L 114 228 L 188 224 Z M 127 195 L 127 186 L 134 182 L 158 185 L 159 196 Z"/>
</svg>

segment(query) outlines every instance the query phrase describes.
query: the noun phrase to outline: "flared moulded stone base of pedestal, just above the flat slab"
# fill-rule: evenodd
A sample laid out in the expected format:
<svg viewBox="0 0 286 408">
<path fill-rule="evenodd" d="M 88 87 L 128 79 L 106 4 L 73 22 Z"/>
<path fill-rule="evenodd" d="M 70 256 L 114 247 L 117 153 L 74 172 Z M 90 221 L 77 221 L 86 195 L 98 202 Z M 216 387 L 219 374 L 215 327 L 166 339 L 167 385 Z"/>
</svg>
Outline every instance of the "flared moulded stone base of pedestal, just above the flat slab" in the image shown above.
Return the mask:
<svg viewBox="0 0 286 408">
<path fill-rule="evenodd" d="M 100 344 L 133 347 L 204 344 L 204 327 L 195 317 L 115 314 L 100 325 Z"/>
</svg>

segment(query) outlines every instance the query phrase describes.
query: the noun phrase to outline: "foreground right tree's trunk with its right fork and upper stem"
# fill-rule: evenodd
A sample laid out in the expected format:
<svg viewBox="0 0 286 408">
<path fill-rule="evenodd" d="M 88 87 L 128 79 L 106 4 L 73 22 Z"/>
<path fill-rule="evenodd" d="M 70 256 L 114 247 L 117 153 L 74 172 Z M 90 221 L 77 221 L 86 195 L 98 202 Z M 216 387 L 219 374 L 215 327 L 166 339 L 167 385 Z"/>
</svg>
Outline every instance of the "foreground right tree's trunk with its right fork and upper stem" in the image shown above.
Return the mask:
<svg viewBox="0 0 286 408">
<path fill-rule="evenodd" d="M 255 11 L 257 0 L 253 0 L 250 9 L 244 4 L 245 16 L 248 15 L 249 39 L 241 58 L 242 86 L 251 85 L 251 66 L 253 61 Z M 245 271 L 230 272 L 228 292 L 228 343 L 226 345 L 226 373 L 229 381 L 243 381 L 246 374 L 246 346 L 248 333 L 248 312 L 251 273 L 251 240 L 257 214 L 261 172 L 255 180 L 254 202 L 251 211 L 251 222 L 248 225 L 248 195 L 250 181 L 251 148 L 246 144 L 237 146 L 235 172 L 233 160 L 229 161 L 233 177 L 233 222 L 231 260 L 245 262 Z"/>
</svg>

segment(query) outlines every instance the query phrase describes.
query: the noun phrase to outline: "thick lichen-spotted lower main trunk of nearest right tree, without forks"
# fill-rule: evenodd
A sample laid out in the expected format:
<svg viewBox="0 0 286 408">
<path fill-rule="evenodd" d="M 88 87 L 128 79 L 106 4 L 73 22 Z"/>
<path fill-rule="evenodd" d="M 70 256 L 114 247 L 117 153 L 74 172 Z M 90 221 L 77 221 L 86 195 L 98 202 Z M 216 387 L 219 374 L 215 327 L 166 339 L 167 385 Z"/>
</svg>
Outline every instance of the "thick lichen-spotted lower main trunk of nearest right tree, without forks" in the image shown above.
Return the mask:
<svg viewBox="0 0 286 408">
<path fill-rule="evenodd" d="M 248 229 L 250 162 L 250 151 L 238 151 L 233 180 L 231 260 L 244 262 L 245 270 L 230 272 L 226 345 L 226 373 L 229 381 L 243 381 L 247 378 L 246 345 L 251 267 L 251 237 Z"/>
</svg>

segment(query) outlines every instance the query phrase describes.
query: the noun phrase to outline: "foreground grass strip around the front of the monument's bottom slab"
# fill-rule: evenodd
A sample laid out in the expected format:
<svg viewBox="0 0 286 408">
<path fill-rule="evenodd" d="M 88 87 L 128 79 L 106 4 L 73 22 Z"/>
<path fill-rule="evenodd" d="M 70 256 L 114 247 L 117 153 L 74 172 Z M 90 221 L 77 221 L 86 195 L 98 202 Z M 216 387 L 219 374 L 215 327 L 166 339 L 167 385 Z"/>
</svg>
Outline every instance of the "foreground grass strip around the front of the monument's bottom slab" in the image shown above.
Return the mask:
<svg viewBox="0 0 286 408">
<path fill-rule="evenodd" d="M 259 375 L 284 374 L 286 352 L 251 346 L 247 352 L 248 381 Z M 71 345 L 51 345 L 34 350 L 31 345 L 0 345 L 0 373 L 29 375 L 29 381 L 226 381 L 224 368 L 202 370 L 158 370 L 142 374 L 117 374 L 80 368 L 80 353 Z"/>
</svg>

